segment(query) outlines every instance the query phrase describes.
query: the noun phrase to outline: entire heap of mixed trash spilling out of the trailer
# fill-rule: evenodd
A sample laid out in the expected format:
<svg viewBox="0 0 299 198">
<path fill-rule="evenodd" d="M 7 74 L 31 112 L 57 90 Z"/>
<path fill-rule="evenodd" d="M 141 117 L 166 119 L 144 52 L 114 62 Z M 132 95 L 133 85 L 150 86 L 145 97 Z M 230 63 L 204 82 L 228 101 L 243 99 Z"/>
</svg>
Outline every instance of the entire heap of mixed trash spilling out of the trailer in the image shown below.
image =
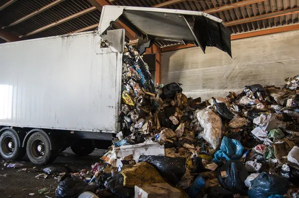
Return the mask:
<svg viewBox="0 0 299 198">
<path fill-rule="evenodd" d="M 179 83 L 154 87 L 132 46 L 123 59 L 122 131 L 101 158 L 105 166 L 92 166 L 89 185 L 69 177 L 57 197 L 77 184 L 73 196 L 299 196 L 299 76 L 284 88 L 257 84 L 201 101 Z"/>
</svg>

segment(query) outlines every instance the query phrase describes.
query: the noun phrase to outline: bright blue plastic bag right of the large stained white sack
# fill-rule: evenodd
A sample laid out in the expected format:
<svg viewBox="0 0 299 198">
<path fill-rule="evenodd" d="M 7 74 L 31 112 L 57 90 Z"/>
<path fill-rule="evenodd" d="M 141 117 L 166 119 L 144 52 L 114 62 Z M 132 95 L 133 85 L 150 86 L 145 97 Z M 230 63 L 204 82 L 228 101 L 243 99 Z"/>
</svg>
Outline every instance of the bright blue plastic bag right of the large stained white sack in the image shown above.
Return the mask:
<svg viewBox="0 0 299 198">
<path fill-rule="evenodd" d="M 244 148 L 238 140 L 223 137 L 220 150 L 214 155 L 214 162 L 219 162 L 221 158 L 225 158 L 227 161 L 238 160 L 243 155 Z"/>
</svg>

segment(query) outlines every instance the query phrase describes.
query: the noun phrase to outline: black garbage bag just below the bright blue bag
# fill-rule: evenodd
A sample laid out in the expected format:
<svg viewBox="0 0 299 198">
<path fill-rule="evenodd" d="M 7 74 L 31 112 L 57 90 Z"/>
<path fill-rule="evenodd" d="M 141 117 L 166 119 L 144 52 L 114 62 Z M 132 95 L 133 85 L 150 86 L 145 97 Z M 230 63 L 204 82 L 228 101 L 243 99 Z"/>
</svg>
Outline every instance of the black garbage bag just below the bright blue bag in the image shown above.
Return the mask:
<svg viewBox="0 0 299 198">
<path fill-rule="evenodd" d="M 222 178 L 221 172 L 226 172 L 227 177 Z M 233 194 L 247 195 L 248 188 L 244 181 L 249 176 L 242 162 L 226 162 L 221 168 L 218 168 L 217 179 L 221 186 Z"/>
</svg>

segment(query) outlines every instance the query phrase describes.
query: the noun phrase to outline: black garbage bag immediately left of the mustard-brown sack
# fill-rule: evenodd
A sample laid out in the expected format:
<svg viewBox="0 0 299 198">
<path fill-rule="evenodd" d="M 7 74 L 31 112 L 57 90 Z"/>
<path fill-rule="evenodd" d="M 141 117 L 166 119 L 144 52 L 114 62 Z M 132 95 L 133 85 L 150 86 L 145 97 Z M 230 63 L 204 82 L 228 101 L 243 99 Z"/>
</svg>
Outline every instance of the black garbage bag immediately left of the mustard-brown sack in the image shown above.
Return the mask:
<svg viewBox="0 0 299 198">
<path fill-rule="evenodd" d="M 134 188 L 124 187 L 124 176 L 120 172 L 108 178 L 105 186 L 120 198 L 132 198 L 135 194 Z"/>
</svg>

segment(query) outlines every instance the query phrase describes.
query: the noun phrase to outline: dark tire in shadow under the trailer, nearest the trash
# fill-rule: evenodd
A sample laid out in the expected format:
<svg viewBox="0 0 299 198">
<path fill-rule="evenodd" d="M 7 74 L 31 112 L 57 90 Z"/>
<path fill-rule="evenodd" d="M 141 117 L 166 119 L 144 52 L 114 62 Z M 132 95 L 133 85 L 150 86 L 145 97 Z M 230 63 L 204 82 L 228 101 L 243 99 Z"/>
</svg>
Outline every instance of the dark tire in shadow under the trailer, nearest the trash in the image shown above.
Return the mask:
<svg viewBox="0 0 299 198">
<path fill-rule="evenodd" d="M 71 146 L 72 151 L 78 156 L 86 156 L 95 150 L 92 140 L 80 139 Z"/>
</svg>

